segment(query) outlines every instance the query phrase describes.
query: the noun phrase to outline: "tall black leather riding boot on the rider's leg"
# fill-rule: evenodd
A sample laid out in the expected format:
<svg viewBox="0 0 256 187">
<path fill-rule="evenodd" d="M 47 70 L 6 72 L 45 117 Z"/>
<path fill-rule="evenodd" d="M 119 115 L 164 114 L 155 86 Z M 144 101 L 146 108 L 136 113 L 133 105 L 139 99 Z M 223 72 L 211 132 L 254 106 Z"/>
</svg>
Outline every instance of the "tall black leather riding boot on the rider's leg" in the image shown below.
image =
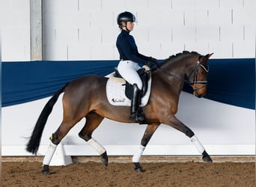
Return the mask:
<svg viewBox="0 0 256 187">
<path fill-rule="evenodd" d="M 136 84 L 133 84 L 132 87 L 133 91 L 131 99 L 131 115 L 129 119 L 142 124 L 146 122 L 146 119 L 144 117 L 142 108 L 139 108 L 138 110 L 139 104 L 141 102 L 141 90 L 138 89 L 138 86 Z"/>
</svg>

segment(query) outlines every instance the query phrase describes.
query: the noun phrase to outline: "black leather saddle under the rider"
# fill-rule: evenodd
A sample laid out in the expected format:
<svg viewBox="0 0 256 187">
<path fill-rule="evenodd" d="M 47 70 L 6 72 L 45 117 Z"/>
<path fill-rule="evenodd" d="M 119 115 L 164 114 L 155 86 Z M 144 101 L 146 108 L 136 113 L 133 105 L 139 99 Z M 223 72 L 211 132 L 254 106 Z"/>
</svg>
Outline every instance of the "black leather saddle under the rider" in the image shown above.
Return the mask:
<svg viewBox="0 0 256 187">
<path fill-rule="evenodd" d="M 149 74 L 146 72 L 146 69 L 144 67 L 142 67 L 141 69 L 139 69 L 137 71 L 138 76 L 141 78 L 142 81 L 142 96 L 143 97 L 145 95 L 145 93 L 147 93 L 147 88 L 148 88 L 148 76 Z M 118 72 L 118 68 L 115 67 L 115 73 L 113 74 L 113 76 L 115 78 L 121 78 L 124 79 L 120 73 Z M 129 82 L 125 81 L 125 95 L 127 96 L 128 99 L 132 98 L 132 85 L 129 84 Z"/>
</svg>

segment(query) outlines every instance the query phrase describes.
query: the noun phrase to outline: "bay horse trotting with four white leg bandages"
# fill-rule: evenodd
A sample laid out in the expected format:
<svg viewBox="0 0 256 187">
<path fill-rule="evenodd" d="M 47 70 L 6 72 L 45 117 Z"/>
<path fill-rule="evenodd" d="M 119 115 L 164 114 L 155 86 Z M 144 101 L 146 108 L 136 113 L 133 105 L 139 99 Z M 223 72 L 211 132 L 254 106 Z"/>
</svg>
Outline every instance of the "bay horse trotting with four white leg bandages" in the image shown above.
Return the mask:
<svg viewBox="0 0 256 187">
<path fill-rule="evenodd" d="M 132 156 L 135 171 L 144 171 L 139 164 L 141 155 L 161 123 L 172 126 L 191 138 L 192 143 L 201 153 L 204 162 L 212 162 L 195 133 L 175 117 L 180 92 L 185 82 L 192 86 L 195 96 L 201 97 L 207 92 L 207 73 L 209 71 L 207 60 L 211 55 L 213 53 L 200 55 L 198 52 L 182 52 L 165 59 L 155 70 L 152 70 L 150 99 L 147 105 L 143 107 L 147 118 L 147 128 L 138 150 Z M 108 165 L 106 149 L 92 138 L 94 130 L 100 125 L 104 117 L 123 123 L 134 123 L 129 120 L 129 106 L 116 106 L 109 103 L 106 97 L 106 82 L 108 79 L 96 75 L 86 75 L 74 79 L 55 92 L 46 103 L 28 141 L 26 147 L 28 152 L 37 153 L 47 118 L 52 112 L 58 96 L 64 92 L 62 99 L 63 120 L 58 129 L 50 136 L 49 147 L 43 159 L 42 174 L 49 174 L 49 162 L 57 145 L 83 117 L 86 118 L 86 122 L 79 132 L 79 137 L 87 141 L 91 147 L 94 147 L 101 156 L 103 164 Z"/>
</svg>

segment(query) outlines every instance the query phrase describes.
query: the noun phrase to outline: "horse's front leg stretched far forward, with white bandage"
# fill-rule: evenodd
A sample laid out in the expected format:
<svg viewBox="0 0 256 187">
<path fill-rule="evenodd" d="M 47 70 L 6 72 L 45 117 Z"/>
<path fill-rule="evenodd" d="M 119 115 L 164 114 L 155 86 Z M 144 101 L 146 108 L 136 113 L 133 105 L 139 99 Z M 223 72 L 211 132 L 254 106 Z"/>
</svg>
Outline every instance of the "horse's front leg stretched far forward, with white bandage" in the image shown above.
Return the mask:
<svg viewBox="0 0 256 187">
<path fill-rule="evenodd" d="M 189 127 L 187 127 L 185 124 L 183 124 L 174 115 L 171 117 L 166 117 L 165 119 L 168 119 L 168 121 L 164 122 L 165 124 L 168 124 L 169 126 L 174 127 L 174 129 L 177 129 L 180 132 L 183 132 L 186 136 L 188 136 L 190 138 L 190 140 L 195 145 L 198 152 L 202 154 L 202 159 L 204 160 L 204 162 L 213 162 L 213 160 L 210 158 L 210 156 L 204 149 L 204 146 L 201 144 L 201 142 L 195 136 L 195 133 L 192 132 L 191 129 L 189 129 Z"/>
</svg>

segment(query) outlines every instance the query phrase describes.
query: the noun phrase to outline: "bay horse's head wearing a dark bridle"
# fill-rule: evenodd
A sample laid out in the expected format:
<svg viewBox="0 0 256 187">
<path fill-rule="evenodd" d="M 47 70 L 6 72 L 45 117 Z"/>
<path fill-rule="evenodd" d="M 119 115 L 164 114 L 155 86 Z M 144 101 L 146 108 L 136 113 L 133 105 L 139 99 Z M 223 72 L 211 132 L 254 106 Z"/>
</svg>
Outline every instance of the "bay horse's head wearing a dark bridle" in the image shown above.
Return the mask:
<svg viewBox="0 0 256 187">
<path fill-rule="evenodd" d="M 193 88 L 194 96 L 202 97 L 207 93 L 207 73 L 209 71 L 207 60 L 212 54 L 199 55 L 195 67 L 189 73 L 188 79 Z"/>
</svg>

